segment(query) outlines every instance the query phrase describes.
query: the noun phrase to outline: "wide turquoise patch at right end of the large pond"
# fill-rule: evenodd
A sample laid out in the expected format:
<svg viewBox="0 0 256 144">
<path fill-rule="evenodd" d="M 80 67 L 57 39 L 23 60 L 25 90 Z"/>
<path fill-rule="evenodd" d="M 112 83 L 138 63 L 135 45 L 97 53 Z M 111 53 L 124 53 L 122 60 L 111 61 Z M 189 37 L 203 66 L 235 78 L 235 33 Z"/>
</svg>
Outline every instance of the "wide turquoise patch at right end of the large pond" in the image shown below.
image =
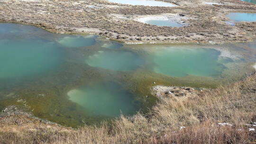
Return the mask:
<svg viewBox="0 0 256 144">
<path fill-rule="evenodd" d="M 154 72 L 170 76 L 218 76 L 225 66 L 214 49 L 169 48 L 152 54 Z"/>
</svg>

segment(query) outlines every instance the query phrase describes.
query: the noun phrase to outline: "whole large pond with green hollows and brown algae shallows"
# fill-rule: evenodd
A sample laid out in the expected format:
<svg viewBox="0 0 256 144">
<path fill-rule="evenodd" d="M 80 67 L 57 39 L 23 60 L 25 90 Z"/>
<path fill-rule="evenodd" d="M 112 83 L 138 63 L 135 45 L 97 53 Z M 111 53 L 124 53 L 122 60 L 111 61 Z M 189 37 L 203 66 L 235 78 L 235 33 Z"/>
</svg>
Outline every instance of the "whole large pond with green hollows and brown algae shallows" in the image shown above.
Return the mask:
<svg viewBox="0 0 256 144">
<path fill-rule="evenodd" d="M 0 24 L 0 39 L 0 109 L 18 105 L 73 127 L 146 113 L 157 100 L 152 86 L 214 88 L 253 72 L 256 62 L 249 44 L 243 51 L 235 45 L 123 45 L 7 23 Z M 234 54 L 218 50 L 224 47 Z"/>
</svg>

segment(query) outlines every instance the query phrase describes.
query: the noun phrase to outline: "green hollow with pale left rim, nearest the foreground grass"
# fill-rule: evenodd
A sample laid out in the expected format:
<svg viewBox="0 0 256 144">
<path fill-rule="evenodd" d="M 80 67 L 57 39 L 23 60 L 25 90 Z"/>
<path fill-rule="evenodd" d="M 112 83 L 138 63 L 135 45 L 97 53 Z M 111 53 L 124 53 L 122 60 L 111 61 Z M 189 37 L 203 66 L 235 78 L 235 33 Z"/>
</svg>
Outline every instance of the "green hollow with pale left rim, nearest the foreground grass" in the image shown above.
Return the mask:
<svg viewBox="0 0 256 144">
<path fill-rule="evenodd" d="M 69 99 L 93 116 L 118 117 L 132 115 L 139 109 L 133 95 L 116 83 L 100 83 L 70 90 Z"/>
</svg>

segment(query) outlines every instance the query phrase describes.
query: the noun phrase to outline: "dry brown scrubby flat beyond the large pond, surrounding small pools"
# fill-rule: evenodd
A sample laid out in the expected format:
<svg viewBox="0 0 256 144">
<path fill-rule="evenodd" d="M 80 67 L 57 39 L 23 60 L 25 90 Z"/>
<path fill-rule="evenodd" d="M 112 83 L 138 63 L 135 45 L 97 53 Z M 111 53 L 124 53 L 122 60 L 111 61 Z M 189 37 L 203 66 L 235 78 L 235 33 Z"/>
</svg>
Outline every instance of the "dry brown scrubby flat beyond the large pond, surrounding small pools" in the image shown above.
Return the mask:
<svg viewBox="0 0 256 144">
<path fill-rule="evenodd" d="M 127 43 L 247 42 L 256 36 L 256 22 L 239 22 L 236 26 L 225 23 L 229 11 L 256 12 L 254 4 L 239 0 L 165 1 L 177 6 L 131 6 L 105 0 L 1 0 L 0 21 L 57 33 L 99 34 Z M 157 27 L 136 21 L 141 16 L 166 14 L 179 16 L 175 18 L 186 25 Z"/>
</svg>

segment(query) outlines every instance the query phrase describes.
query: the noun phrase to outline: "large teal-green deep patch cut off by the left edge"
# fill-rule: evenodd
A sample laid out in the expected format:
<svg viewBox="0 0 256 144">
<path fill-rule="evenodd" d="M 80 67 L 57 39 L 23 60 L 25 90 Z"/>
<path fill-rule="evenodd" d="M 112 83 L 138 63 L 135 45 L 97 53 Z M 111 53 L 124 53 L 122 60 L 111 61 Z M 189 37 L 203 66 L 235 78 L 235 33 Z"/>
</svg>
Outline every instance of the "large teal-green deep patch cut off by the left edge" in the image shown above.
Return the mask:
<svg viewBox="0 0 256 144">
<path fill-rule="evenodd" d="M 0 79 L 31 77 L 51 71 L 63 60 L 58 45 L 43 40 L 0 41 Z"/>
</svg>

